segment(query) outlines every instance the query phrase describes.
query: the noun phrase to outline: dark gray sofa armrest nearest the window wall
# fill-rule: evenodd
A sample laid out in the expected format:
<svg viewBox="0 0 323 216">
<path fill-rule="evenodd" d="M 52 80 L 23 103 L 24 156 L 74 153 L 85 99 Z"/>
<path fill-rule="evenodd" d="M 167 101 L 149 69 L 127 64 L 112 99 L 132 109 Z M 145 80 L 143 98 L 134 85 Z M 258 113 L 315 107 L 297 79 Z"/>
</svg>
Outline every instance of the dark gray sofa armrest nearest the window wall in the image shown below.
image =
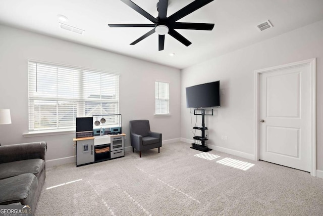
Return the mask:
<svg viewBox="0 0 323 216">
<path fill-rule="evenodd" d="M 0 163 L 40 158 L 45 160 L 46 142 L 0 146 Z"/>
</svg>

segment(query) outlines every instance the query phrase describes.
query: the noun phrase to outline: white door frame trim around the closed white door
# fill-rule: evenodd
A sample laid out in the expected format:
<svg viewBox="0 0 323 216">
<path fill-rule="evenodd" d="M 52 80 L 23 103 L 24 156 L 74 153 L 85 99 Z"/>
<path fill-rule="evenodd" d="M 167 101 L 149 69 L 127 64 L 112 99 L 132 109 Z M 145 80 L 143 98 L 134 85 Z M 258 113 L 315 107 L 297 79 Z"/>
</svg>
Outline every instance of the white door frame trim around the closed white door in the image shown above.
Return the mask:
<svg viewBox="0 0 323 216">
<path fill-rule="evenodd" d="M 316 176 L 316 58 L 308 59 L 289 64 L 268 67 L 254 71 L 254 160 L 259 160 L 259 77 L 261 73 L 277 71 L 300 65 L 310 66 L 310 112 L 311 112 L 311 154 L 310 154 L 310 174 Z"/>
</svg>

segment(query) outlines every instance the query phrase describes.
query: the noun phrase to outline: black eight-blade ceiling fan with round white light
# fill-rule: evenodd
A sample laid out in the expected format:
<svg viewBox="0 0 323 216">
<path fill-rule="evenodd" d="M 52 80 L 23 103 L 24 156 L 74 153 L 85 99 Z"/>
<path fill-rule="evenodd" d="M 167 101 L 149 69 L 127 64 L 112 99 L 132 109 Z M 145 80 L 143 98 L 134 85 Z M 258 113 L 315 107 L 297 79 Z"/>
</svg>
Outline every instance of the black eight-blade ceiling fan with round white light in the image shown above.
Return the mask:
<svg viewBox="0 0 323 216">
<path fill-rule="evenodd" d="M 175 29 L 194 29 L 194 30 L 212 30 L 214 23 L 190 23 L 190 22 L 177 22 L 179 19 L 189 15 L 190 13 L 198 10 L 199 8 L 207 5 L 214 0 L 195 0 L 173 15 L 167 17 L 168 0 L 159 0 L 157 3 L 158 17 L 154 18 L 142 8 L 134 4 L 130 0 L 121 0 L 133 10 L 150 20 L 153 24 L 108 24 L 110 27 L 153 27 L 150 31 L 133 41 L 130 45 L 135 45 L 139 41 L 148 37 L 156 32 L 158 34 L 158 50 L 164 50 L 165 34 L 169 34 L 186 47 L 190 46 L 192 42 L 186 39 L 183 35 L 178 33 Z"/>
</svg>

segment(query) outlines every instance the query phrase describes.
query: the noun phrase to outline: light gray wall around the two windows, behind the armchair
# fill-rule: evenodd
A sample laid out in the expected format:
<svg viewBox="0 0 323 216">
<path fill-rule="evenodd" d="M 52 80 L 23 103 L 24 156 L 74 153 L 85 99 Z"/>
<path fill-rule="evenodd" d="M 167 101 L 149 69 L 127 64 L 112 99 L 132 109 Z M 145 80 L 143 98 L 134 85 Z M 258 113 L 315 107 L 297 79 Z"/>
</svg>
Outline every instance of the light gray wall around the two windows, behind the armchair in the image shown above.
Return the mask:
<svg viewBox="0 0 323 216">
<path fill-rule="evenodd" d="M 163 140 L 179 138 L 174 127 L 180 127 L 180 70 L 4 25 L 0 25 L 0 32 L 0 109 L 10 109 L 12 117 L 12 124 L 0 125 L 3 145 L 46 141 L 47 160 L 74 159 L 74 133 L 23 136 L 28 133 L 28 59 L 120 73 L 123 132 L 129 135 L 129 120 L 149 119 L 151 130 L 163 133 Z M 170 83 L 169 117 L 153 115 L 156 80 Z"/>
</svg>

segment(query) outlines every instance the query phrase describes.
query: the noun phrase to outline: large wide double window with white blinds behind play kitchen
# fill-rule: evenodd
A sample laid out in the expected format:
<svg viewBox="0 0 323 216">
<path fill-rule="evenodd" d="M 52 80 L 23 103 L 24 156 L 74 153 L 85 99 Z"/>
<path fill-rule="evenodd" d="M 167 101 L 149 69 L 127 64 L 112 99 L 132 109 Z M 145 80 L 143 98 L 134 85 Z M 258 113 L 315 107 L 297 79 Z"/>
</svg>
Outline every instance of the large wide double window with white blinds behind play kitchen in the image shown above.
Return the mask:
<svg viewBox="0 0 323 216">
<path fill-rule="evenodd" d="M 119 114 L 119 75 L 29 61 L 29 131 L 75 128 L 75 117 Z"/>
</svg>

